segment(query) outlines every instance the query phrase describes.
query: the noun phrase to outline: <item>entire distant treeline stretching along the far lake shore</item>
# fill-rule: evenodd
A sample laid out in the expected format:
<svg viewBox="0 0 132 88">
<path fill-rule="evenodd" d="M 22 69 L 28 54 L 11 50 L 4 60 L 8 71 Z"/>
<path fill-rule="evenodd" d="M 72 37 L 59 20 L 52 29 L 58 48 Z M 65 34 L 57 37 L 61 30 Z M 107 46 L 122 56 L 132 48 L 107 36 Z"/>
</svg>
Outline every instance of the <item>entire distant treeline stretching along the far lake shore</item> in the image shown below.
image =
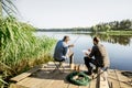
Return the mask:
<svg viewBox="0 0 132 88">
<path fill-rule="evenodd" d="M 108 32 L 108 31 L 132 31 L 132 20 L 113 21 L 108 23 L 99 23 L 90 28 L 72 28 L 72 29 L 37 29 L 36 31 L 91 31 L 91 32 Z"/>
</svg>

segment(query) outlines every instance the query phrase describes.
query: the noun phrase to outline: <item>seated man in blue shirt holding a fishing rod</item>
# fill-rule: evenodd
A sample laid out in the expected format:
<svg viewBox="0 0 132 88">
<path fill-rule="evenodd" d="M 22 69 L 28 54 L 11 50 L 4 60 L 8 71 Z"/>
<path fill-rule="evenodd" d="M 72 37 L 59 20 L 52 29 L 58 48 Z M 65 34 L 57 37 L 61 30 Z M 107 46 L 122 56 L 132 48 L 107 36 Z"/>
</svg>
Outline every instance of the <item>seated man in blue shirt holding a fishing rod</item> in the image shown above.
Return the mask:
<svg viewBox="0 0 132 88">
<path fill-rule="evenodd" d="M 68 44 L 69 36 L 64 36 L 63 40 L 58 41 L 55 51 L 54 51 L 54 59 L 56 62 L 64 62 L 67 58 L 73 58 L 74 53 L 70 51 L 69 47 L 74 47 L 73 44 Z"/>
</svg>

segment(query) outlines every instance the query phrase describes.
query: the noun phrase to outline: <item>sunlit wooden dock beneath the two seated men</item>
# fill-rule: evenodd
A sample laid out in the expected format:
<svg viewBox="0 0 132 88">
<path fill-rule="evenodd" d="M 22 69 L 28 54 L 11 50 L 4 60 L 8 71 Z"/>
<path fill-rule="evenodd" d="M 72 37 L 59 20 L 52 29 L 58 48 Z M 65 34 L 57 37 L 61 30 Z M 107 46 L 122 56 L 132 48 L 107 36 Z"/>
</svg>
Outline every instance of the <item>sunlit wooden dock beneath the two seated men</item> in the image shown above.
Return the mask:
<svg viewBox="0 0 132 88">
<path fill-rule="evenodd" d="M 132 88 L 132 77 L 123 76 L 121 70 L 118 69 L 108 69 L 108 72 L 101 74 L 99 80 L 97 78 L 92 79 L 94 76 L 89 76 L 91 81 L 87 86 L 73 85 L 66 80 L 66 76 L 73 70 L 66 63 L 63 66 L 65 67 L 64 73 L 54 70 L 55 65 L 53 62 L 37 66 L 11 78 L 14 82 L 10 85 L 10 88 Z M 80 70 L 87 70 L 85 65 L 80 65 Z M 99 87 L 97 87 L 98 81 L 100 82 Z"/>
</svg>

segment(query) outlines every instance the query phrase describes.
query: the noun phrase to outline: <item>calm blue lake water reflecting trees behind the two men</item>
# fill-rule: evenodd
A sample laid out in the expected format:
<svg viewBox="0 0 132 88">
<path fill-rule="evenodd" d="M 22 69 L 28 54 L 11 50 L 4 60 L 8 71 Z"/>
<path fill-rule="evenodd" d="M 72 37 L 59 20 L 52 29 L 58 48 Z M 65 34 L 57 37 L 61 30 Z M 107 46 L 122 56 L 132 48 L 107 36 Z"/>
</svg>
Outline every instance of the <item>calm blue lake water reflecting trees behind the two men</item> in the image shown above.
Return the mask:
<svg viewBox="0 0 132 88">
<path fill-rule="evenodd" d="M 70 36 L 69 44 L 75 44 L 72 48 L 75 53 L 74 63 L 84 64 L 82 50 L 92 47 L 92 37 L 95 34 L 81 32 L 36 32 L 36 36 L 47 35 L 62 40 L 64 35 Z M 110 68 L 118 68 L 122 70 L 132 70 L 132 35 L 102 35 L 98 34 L 100 43 L 103 44 L 110 57 Z M 54 48 L 53 48 L 54 50 Z"/>
</svg>

